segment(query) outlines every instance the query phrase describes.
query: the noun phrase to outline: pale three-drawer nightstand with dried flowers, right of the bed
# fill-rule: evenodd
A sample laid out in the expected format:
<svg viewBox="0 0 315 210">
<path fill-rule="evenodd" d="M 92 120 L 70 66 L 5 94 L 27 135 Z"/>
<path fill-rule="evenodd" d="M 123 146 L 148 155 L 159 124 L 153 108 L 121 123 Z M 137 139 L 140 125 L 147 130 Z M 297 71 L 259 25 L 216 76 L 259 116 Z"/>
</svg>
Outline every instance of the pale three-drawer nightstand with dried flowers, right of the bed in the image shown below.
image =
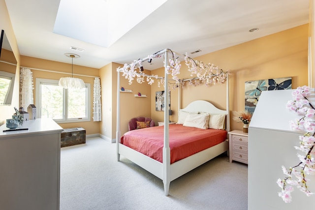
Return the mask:
<svg viewBox="0 0 315 210">
<path fill-rule="evenodd" d="M 229 159 L 248 164 L 248 133 L 241 130 L 228 132 Z"/>
</svg>

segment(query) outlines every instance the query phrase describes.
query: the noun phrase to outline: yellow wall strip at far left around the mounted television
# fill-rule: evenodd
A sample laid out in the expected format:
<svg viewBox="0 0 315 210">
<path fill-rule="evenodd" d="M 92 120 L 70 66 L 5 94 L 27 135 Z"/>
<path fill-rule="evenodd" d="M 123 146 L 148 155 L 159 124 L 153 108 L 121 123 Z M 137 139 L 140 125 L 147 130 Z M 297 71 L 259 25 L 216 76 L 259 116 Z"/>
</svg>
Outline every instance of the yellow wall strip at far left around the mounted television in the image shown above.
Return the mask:
<svg viewBox="0 0 315 210">
<path fill-rule="evenodd" d="M 5 123 L 6 119 L 12 118 L 14 111 L 14 107 L 19 107 L 19 91 L 20 87 L 20 52 L 19 48 L 15 39 L 14 31 L 11 25 L 11 21 L 9 18 L 9 14 L 6 8 L 6 4 L 4 0 L 0 0 L 0 30 L 4 30 L 8 41 L 11 45 L 13 54 L 17 60 L 17 71 L 15 72 L 15 85 L 13 90 L 13 98 L 12 98 L 12 105 L 11 106 L 0 106 L 0 125 Z"/>
</svg>

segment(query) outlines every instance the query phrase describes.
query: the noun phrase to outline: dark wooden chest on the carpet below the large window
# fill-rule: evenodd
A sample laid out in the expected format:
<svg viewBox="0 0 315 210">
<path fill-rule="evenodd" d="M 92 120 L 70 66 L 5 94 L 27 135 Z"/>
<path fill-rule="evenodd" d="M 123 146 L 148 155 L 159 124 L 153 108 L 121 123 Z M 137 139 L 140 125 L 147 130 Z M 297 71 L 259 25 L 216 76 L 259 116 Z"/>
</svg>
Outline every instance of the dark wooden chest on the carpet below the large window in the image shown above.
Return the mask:
<svg viewBox="0 0 315 210">
<path fill-rule="evenodd" d="M 85 144 L 85 129 L 82 127 L 63 129 L 61 147 Z"/>
</svg>

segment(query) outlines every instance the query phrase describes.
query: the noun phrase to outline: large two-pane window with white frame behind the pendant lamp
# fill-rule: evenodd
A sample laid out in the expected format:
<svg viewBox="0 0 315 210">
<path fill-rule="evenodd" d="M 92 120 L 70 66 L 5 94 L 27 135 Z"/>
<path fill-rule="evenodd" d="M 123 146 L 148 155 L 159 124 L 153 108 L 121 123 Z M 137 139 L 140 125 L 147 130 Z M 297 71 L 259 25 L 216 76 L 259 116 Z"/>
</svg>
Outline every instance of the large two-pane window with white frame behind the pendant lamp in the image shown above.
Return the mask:
<svg viewBox="0 0 315 210">
<path fill-rule="evenodd" d="M 84 89 L 63 89 L 58 80 L 36 78 L 38 118 L 51 118 L 59 123 L 90 121 L 91 85 Z"/>
</svg>

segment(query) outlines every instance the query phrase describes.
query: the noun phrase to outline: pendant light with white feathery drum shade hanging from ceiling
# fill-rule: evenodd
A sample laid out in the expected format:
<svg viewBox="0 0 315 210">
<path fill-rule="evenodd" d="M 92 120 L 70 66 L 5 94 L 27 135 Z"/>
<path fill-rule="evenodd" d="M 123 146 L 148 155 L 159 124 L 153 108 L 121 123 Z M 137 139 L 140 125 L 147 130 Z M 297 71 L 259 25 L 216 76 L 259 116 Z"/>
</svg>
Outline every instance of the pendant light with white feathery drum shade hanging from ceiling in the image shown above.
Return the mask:
<svg viewBox="0 0 315 210">
<path fill-rule="evenodd" d="M 69 54 L 69 53 L 66 53 L 64 55 L 66 57 L 70 57 L 71 58 L 71 62 L 72 62 L 71 63 L 71 68 L 72 68 L 71 74 L 72 74 L 72 77 L 62 77 L 62 78 L 60 78 L 59 86 L 63 87 L 64 89 L 68 89 L 68 88 L 71 88 L 71 89 L 83 89 L 85 87 L 85 84 L 84 84 L 83 80 L 80 79 L 80 78 L 73 77 L 73 59 L 80 58 L 80 56 L 76 55 L 76 54 Z"/>
</svg>

